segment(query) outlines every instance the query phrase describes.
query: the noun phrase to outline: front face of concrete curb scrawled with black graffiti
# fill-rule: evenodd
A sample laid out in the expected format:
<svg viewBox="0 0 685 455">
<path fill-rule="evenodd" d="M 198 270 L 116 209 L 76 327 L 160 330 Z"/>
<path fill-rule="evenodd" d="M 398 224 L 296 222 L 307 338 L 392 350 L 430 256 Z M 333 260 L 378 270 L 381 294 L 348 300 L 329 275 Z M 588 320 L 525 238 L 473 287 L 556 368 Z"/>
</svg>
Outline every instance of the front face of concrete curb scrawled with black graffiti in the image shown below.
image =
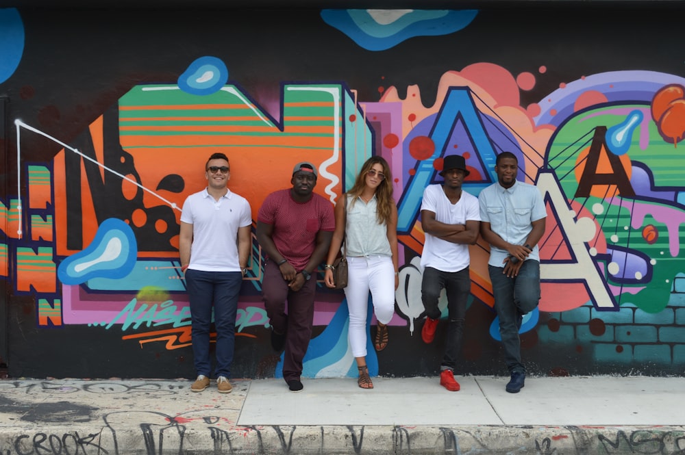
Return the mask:
<svg viewBox="0 0 685 455">
<path fill-rule="evenodd" d="M 222 430 L 172 422 L 132 426 L 127 413 L 95 426 L 51 426 L 40 432 L 0 428 L 2 455 L 178 454 L 671 454 L 685 427 L 573 426 L 254 426 Z M 127 418 L 128 417 L 128 418 Z M 189 428 L 192 427 L 192 428 Z"/>
</svg>

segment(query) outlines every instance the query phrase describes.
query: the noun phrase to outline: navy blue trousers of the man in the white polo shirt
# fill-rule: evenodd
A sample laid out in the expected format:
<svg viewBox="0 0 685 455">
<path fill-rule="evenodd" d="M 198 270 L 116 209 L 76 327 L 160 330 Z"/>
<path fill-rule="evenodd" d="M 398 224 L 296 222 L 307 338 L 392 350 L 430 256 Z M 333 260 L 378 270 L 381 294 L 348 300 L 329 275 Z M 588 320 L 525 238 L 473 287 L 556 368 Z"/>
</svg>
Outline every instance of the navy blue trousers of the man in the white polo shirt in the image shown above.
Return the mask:
<svg viewBox="0 0 685 455">
<path fill-rule="evenodd" d="M 242 285 L 240 272 L 203 272 L 186 270 L 186 289 L 190 300 L 192 354 L 195 372 L 208 378 L 210 361 L 210 326 L 214 307 L 216 328 L 216 369 L 214 376 L 230 377 L 236 346 L 236 315 Z"/>
</svg>

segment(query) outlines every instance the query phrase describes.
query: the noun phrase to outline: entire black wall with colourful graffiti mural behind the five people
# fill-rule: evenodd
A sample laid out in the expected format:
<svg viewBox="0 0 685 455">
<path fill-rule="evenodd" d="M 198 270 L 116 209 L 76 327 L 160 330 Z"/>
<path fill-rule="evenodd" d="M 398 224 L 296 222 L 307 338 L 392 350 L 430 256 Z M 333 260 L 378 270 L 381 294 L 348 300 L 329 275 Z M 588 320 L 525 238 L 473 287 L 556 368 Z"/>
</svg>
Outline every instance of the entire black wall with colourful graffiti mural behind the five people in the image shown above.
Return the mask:
<svg viewBox="0 0 685 455">
<path fill-rule="evenodd" d="M 1 8 L 0 361 L 10 376 L 194 376 L 179 216 L 210 153 L 229 156 L 255 222 L 296 162 L 333 201 L 382 155 L 401 285 L 369 366 L 436 374 L 445 324 L 430 346 L 419 335 L 423 189 L 457 153 L 477 195 L 512 151 L 547 204 L 530 372 L 684 374 L 680 11 L 623 13 Z M 480 240 L 458 374 L 506 374 L 487 259 Z M 262 272 L 253 237 L 236 378 L 281 375 Z M 356 376 L 344 295 L 319 272 L 304 374 Z"/>
</svg>

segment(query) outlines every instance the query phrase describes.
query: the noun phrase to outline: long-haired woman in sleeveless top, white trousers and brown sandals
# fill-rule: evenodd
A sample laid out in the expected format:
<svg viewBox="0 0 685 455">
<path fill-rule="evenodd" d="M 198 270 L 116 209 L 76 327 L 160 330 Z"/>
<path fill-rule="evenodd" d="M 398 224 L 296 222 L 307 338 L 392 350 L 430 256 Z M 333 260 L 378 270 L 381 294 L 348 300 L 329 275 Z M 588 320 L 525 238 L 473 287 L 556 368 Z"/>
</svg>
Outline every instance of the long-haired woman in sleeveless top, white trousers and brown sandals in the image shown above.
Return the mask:
<svg viewBox="0 0 685 455">
<path fill-rule="evenodd" d="M 362 166 L 354 186 L 336 203 L 336 230 L 325 265 L 325 283 L 333 287 L 333 261 L 345 240 L 348 280 L 349 344 L 359 369 L 358 385 L 373 389 L 366 367 L 366 319 L 369 292 L 377 320 L 375 350 L 388 345 L 388 322 L 395 313 L 397 276 L 397 205 L 388 162 L 371 157 Z"/>
</svg>

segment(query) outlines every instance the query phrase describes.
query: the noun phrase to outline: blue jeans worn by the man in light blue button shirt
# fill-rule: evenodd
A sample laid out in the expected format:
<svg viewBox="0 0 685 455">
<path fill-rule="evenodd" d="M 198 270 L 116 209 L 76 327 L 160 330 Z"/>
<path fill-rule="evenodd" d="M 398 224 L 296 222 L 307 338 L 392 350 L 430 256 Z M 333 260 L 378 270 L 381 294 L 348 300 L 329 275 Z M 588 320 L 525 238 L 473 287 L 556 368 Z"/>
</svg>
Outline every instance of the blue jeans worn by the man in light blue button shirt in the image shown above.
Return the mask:
<svg viewBox="0 0 685 455">
<path fill-rule="evenodd" d="M 510 374 L 525 373 L 525 366 L 521 363 L 519 330 L 523 315 L 533 311 L 540 302 L 540 263 L 532 259 L 523 261 L 518 276 L 514 277 L 506 276 L 503 270 L 502 267 L 488 265 L 504 362 Z"/>
</svg>

